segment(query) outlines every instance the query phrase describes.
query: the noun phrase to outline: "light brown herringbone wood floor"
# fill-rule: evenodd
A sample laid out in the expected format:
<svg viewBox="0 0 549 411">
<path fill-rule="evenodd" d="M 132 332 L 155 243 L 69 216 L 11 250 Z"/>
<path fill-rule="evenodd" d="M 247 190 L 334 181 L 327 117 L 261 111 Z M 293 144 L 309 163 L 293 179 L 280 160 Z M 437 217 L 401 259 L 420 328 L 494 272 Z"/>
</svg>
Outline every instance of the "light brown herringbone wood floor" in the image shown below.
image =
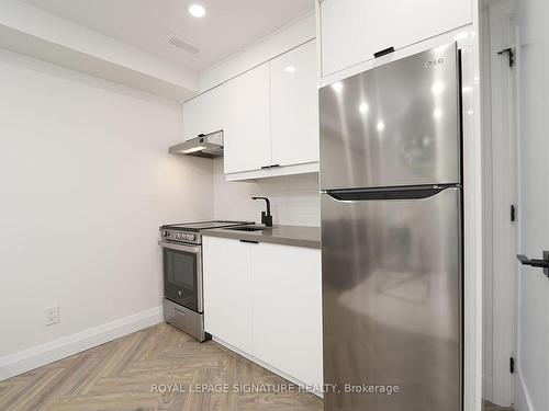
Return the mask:
<svg viewBox="0 0 549 411">
<path fill-rule="evenodd" d="M 285 384 L 215 342 L 159 324 L 0 383 L 0 410 L 321 411 L 306 392 L 153 392 L 153 385 Z"/>
</svg>

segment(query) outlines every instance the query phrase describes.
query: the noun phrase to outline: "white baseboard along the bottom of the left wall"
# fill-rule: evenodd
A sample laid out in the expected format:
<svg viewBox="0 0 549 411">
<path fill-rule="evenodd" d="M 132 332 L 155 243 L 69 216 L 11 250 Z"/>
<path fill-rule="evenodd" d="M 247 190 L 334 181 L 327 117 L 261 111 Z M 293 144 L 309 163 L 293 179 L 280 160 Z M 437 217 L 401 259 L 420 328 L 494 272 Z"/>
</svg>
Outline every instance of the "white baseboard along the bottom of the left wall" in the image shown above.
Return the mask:
<svg viewBox="0 0 549 411">
<path fill-rule="evenodd" d="M 107 324 L 0 357 L 0 381 L 164 321 L 163 307 L 155 307 Z"/>
</svg>

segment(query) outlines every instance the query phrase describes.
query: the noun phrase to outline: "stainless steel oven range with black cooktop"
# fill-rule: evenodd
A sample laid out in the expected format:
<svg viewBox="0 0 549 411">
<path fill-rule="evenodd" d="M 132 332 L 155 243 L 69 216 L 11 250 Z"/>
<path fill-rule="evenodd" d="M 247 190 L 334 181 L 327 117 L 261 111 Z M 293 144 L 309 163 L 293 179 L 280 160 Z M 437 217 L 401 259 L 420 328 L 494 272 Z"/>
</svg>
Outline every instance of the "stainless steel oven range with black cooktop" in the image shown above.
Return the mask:
<svg viewBox="0 0 549 411">
<path fill-rule="evenodd" d="M 164 265 L 164 317 L 205 341 L 202 289 L 202 230 L 240 226 L 242 221 L 201 221 L 160 227 Z"/>
</svg>

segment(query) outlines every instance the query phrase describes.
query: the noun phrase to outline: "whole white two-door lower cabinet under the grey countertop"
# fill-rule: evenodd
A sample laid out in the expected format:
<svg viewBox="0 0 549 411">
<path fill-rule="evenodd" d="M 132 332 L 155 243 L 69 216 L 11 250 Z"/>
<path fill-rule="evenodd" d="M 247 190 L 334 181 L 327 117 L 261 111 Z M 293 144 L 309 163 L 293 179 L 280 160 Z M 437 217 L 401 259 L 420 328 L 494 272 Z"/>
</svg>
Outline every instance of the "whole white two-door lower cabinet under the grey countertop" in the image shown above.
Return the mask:
<svg viewBox="0 0 549 411">
<path fill-rule="evenodd" d="M 321 251 L 204 237 L 203 261 L 206 332 L 321 387 Z"/>
</svg>

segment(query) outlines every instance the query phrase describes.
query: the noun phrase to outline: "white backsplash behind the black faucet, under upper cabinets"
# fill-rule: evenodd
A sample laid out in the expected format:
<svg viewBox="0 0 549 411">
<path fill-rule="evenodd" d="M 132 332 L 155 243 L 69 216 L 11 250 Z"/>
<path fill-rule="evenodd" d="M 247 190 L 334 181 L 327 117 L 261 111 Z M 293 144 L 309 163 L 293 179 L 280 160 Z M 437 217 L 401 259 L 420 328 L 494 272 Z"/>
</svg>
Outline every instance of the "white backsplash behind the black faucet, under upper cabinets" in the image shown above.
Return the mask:
<svg viewBox="0 0 549 411">
<path fill-rule="evenodd" d="M 214 160 L 213 170 L 216 219 L 260 222 L 265 202 L 250 197 L 265 196 L 271 201 L 274 225 L 321 226 L 318 174 L 227 182 L 223 173 L 223 159 Z"/>
</svg>

